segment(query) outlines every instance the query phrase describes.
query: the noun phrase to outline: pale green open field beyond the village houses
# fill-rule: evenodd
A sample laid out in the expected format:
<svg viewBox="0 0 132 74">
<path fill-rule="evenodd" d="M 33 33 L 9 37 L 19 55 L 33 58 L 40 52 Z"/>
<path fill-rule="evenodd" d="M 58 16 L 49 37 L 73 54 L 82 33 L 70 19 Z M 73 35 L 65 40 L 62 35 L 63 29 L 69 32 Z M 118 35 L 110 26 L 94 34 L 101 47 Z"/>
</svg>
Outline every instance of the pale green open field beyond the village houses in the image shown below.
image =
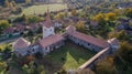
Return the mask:
<svg viewBox="0 0 132 74">
<path fill-rule="evenodd" d="M 50 11 L 58 11 L 62 9 L 67 9 L 66 4 L 48 4 Z M 32 6 L 24 8 L 22 14 L 44 14 L 47 11 L 47 4 Z"/>
</svg>

